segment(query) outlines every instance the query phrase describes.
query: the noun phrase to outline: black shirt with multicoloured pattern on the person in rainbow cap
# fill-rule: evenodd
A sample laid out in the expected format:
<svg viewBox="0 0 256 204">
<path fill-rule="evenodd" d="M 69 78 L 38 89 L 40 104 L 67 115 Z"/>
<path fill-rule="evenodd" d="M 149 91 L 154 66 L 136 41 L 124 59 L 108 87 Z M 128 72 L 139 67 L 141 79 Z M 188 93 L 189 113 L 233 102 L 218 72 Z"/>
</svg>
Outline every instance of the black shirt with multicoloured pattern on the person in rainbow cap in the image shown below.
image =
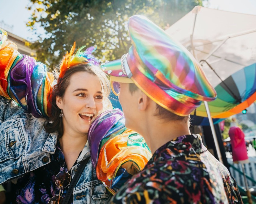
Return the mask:
<svg viewBox="0 0 256 204">
<path fill-rule="evenodd" d="M 242 203 L 228 169 L 202 144 L 183 135 L 156 150 L 145 168 L 112 198 L 112 203 Z"/>
</svg>

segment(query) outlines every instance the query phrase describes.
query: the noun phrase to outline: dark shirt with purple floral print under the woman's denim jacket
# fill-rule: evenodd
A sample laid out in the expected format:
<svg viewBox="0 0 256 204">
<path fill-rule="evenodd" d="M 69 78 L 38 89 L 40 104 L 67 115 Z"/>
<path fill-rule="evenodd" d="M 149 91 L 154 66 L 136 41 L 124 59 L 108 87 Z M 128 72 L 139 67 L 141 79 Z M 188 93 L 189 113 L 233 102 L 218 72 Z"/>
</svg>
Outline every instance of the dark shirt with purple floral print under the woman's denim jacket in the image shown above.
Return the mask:
<svg viewBox="0 0 256 204">
<path fill-rule="evenodd" d="M 48 203 L 51 197 L 59 195 L 60 188 L 55 184 L 55 177 L 62 171 L 68 172 L 64 154 L 60 149 L 58 141 L 56 151 L 51 155 L 51 162 L 49 164 L 18 179 L 16 190 L 14 191 L 15 203 Z M 67 188 L 64 188 L 62 193 L 63 198 L 66 192 Z"/>
</svg>

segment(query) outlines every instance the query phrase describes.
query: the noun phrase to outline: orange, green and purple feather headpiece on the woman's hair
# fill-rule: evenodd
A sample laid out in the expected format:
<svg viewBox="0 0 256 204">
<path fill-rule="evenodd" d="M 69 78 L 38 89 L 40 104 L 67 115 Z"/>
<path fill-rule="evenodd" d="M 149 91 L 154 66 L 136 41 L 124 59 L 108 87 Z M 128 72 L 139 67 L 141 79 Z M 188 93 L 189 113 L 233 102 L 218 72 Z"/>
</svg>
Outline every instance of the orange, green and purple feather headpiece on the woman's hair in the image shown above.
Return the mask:
<svg viewBox="0 0 256 204">
<path fill-rule="evenodd" d="M 93 64 L 93 65 L 99 65 L 100 62 L 92 55 L 92 53 L 96 50 L 96 47 L 89 47 L 86 50 L 84 48 L 86 46 L 82 46 L 77 49 L 77 51 L 74 53 L 76 47 L 76 42 L 74 42 L 73 46 L 70 49 L 70 52 L 65 56 L 63 56 L 63 59 L 60 63 L 60 74 L 59 78 L 63 78 L 66 71 L 73 66 L 76 65 L 86 65 L 86 64 Z"/>
</svg>

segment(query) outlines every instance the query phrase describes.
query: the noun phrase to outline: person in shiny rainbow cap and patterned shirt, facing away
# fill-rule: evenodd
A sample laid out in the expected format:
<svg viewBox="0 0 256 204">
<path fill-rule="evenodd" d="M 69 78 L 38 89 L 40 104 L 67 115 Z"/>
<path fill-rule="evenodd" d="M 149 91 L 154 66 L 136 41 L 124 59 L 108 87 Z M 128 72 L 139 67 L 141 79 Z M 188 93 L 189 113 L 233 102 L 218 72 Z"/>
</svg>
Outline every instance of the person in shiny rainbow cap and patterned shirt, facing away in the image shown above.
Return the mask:
<svg viewBox="0 0 256 204">
<path fill-rule="evenodd" d="M 189 131 L 189 114 L 216 92 L 194 57 L 147 18 L 128 22 L 132 46 L 102 65 L 119 95 L 125 126 L 153 157 L 112 203 L 242 203 L 228 169 Z"/>
</svg>

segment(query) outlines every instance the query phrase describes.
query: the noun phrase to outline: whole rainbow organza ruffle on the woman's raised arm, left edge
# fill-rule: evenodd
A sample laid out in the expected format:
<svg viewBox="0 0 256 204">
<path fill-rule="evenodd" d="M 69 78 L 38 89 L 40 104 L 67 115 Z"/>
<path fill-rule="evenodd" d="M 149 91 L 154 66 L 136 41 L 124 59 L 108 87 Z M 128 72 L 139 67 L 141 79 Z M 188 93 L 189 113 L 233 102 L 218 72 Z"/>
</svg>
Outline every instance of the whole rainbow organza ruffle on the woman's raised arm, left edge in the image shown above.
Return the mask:
<svg viewBox="0 0 256 204">
<path fill-rule="evenodd" d="M 0 29 L 0 95 L 37 118 L 48 117 L 54 75 L 43 63 L 21 55 L 16 44 L 6 39 L 7 33 Z"/>
</svg>

